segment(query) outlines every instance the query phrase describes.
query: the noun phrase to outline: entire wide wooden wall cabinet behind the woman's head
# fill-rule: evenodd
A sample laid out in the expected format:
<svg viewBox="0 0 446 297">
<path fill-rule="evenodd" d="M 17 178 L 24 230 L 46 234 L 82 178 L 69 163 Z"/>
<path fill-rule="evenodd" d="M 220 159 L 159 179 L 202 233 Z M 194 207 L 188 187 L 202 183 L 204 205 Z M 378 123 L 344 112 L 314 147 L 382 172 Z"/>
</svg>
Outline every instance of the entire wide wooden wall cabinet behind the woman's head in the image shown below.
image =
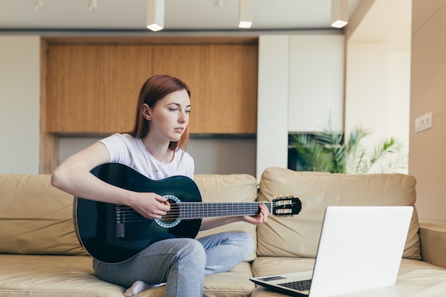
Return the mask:
<svg viewBox="0 0 446 297">
<path fill-rule="evenodd" d="M 131 130 L 142 83 L 165 73 L 190 87 L 191 133 L 255 133 L 257 58 L 252 43 L 48 43 L 48 132 Z"/>
</svg>

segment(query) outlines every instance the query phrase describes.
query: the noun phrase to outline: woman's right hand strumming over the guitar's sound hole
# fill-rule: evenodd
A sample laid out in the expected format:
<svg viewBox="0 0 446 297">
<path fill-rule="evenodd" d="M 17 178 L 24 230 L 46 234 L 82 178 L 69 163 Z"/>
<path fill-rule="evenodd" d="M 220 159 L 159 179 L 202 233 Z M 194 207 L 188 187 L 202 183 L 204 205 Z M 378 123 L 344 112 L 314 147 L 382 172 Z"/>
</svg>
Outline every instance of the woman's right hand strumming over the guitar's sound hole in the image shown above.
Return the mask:
<svg viewBox="0 0 446 297">
<path fill-rule="evenodd" d="M 161 219 L 170 211 L 167 198 L 153 192 L 135 192 L 128 207 L 131 207 L 147 219 Z"/>
</svg>

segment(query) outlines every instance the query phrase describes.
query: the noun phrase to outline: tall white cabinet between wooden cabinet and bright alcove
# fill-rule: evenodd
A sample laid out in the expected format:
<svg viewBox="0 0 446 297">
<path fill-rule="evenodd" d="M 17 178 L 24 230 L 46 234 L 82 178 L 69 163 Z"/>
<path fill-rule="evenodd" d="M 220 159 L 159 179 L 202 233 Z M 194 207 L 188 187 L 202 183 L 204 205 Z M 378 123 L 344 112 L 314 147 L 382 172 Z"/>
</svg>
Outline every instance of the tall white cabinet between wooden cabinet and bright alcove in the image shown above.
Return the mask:
<svg viewBox="0 0 446 297">
<path fill-rule="evenodd" d="M 257 96 L 257 179 L 288 166 L 289 132 L 343 127 L 344 36 L 261 35 Z"/>
</svg>

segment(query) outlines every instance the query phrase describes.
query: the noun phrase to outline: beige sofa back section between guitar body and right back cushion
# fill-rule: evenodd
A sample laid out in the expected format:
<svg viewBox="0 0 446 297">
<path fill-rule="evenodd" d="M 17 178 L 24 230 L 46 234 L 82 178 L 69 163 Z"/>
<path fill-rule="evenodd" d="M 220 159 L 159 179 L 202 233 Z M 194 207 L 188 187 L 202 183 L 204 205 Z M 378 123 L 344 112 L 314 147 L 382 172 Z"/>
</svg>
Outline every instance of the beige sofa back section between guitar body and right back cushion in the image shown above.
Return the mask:
<svg viewBox="0 0 446 297">
<path fill-rule="evenodd" d="M 195 182 L 204 202 L 255 202 L 257 181 L 249 174 L 196 174 Z M 199 231 L 197 238 L 224 231 L 247 231 L 256 244 L 256 226 L 245 222 L 235 222 L 217 228 Z M 256 251 L 252 251 L 246 261 L 252 261 Z"/>
</svg>

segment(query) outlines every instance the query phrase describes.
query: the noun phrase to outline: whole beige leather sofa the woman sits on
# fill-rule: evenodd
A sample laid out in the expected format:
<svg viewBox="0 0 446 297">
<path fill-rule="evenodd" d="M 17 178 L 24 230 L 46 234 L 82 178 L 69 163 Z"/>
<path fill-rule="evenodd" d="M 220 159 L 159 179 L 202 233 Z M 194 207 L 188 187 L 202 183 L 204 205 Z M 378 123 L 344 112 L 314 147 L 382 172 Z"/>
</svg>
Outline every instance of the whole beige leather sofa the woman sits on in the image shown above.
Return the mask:
<svg viewBox="0 0 446 297">
<path fill-rule="evenodd" d="M 51 187 L 49 179 L 0 174 L 0 296 L 123 296 L 124 288 L 95 277 L 91 258 L 76 239 L 73 197 Z M 204 201 L 271 201 L 294 195 L 302 202 L 294 217 L 270 216 L 257 227 L 237 223 L 212 230 L 247 230 L 256 251 L 232 271 L 206 276 L 204 296 L 281 296 L 254 286 L 249 277 L 311 269 L 328 205 L 415 204 L 415 178 L 402 174 L 354 176 L 274 167 L 265 170 L 259 192 L 256 179 L 247 174 L 197 175 L 195 182 Z M 442 267 L 446 227 L 419 227 L 415 211 L 395 288 L 400 296 L 444 297 Z M 163 296 L 163 287 L 138 296 Z"/>
</svg>

